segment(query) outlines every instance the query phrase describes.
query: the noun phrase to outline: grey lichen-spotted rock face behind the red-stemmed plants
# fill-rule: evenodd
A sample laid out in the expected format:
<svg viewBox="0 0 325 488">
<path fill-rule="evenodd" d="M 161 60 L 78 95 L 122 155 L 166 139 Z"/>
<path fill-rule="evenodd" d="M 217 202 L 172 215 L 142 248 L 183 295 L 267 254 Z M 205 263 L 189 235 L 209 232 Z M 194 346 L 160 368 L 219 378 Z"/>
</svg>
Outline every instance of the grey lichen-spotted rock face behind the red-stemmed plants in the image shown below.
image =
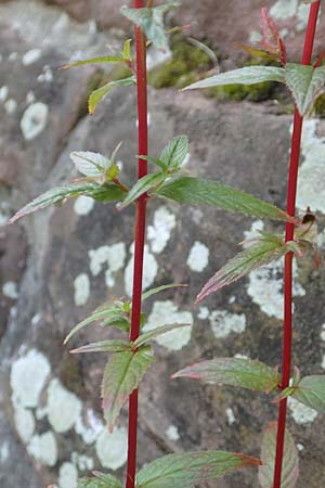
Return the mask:
<svg viewBox="0 0 325 488">
<path fill-rule="evenodd" d="M 28 1 L 28 9 L 24 1 L 4 3 L 0 20 L 0 88 L 6 93 L 0 102 L 2 223 L 13 208 L 77 176 L 69 160 L 74 150 L 110 154 L 123 140 L 118 157 L 125 181 L 133 181 L 134 90 L 116 90 L 89 117 L 86 95 L 96 72 L 55 69 L 78 51 L 103 52 L 114 39 L 38 2 Z M 270 104 L 218 104 L 200 93 L 151 90 L 151 153 L 158 155 L 174 134 L 186 133 L 193 174 L 284 207 L 291 117 L 272 112 Z M 324 179 L 312 180 L 316 192 L 307 184 L 323 160 L 323 133 L 322 121 L 307 121 L 301 210 L 313 198 L 323 211 Z M 0 485 L 5 488 L 75 488 L 78 475 L 94 467 L 123 474 L 126 412 L 112 435 L 101 413 L 105 358 L 70 356 L 62 343 L 107 295 L 130 293 L 133 217 L 132 208 L 119 213 L 114 205 L 80 198 L 16 227 L 1 227 Z M 161 317 L 167 323 L 186 321 L 192 335 L 155 345 L 157 362 L 141 386 L 139 465 L 190 449 L 259 454 L 262 429 L 276 418 L 270 398 L 170 381 L 170 375 L 202 358 L 244 355 L 274 367 L 281 362 L 281 264 L 251 273 L 200 307 L 193 305 L 200 286 L 237 252 L 237 243 L 262 228 L 263 222 L 209 208 L 164 200 L 150 204 L 145 284 L 188 287 L 148 301 L 148 322 Z M 314 271 L 312 257 L 296 270 L 294 362 L 304 375 L 325 368 L 324 283 L 324 268 Z M 107 336 L 113 335 L 89 328 L 70 347 Z M 297 488 L 320 488 L 325 475 L 322 415 L 291 402 L 289 427 L 301 450 Z M 238 486 L 257 488 L 256 473 L 218 481 L 222 488 Z"/>
</svg>

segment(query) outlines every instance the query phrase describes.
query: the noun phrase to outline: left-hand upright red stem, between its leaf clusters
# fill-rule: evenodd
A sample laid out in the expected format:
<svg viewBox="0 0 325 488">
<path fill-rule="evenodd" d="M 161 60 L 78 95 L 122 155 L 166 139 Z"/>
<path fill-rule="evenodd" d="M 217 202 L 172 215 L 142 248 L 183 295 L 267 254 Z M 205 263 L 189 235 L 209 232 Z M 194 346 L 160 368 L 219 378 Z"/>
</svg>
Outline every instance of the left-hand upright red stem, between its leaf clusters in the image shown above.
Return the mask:
<svg viewBox="0 0 325 488">
<path fill-rule="evenodd" d="M 134 0 L 134 8 L 144 7 L 144 0 Z M 147 84 L 146 84 L 146 44 L 145 37 L 139 27 L 135 28 L 136 49 L 136 89 L 139 119 L 139 152 L 147 155 Z M 147 175 L 147 163 L 139 158 L 138 178 Z M 140 334 L 142 275 L 145 242 L 146 195 L 139 198 L 135 214 L 135 251 L 132 295 L 132 317 L 130 341 L 135 341 Z M 134 488 L 136 473 L 136 438 L 138 438 L 138 389 L 129 398 L 129 444 L 128 470 L 126 488 Z"/>
</svg>

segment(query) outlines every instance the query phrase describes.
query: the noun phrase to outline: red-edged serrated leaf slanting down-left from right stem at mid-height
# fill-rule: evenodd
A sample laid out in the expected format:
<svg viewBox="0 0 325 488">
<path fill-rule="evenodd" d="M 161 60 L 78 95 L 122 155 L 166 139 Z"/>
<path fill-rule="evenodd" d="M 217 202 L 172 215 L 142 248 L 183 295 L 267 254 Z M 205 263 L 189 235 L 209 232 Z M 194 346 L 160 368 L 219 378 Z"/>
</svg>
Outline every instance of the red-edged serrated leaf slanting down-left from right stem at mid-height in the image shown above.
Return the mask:
<svg viewBox="0 0 325 488">
<path fill-rule="evenodd" d="M 246 277 L 251 271 L 261 266 L 280 259 L 286 253 L 291 252 L 290 242 L 275 242 L 272 239 L 261 236 L 257 242 L 235 257 L 230 259 L 203 287 L 196 298 L 196 303 L 202 301 L 211 293 L 216 293 L 224 286 L 229 286 L 240 278 Z"/>
</svg>

